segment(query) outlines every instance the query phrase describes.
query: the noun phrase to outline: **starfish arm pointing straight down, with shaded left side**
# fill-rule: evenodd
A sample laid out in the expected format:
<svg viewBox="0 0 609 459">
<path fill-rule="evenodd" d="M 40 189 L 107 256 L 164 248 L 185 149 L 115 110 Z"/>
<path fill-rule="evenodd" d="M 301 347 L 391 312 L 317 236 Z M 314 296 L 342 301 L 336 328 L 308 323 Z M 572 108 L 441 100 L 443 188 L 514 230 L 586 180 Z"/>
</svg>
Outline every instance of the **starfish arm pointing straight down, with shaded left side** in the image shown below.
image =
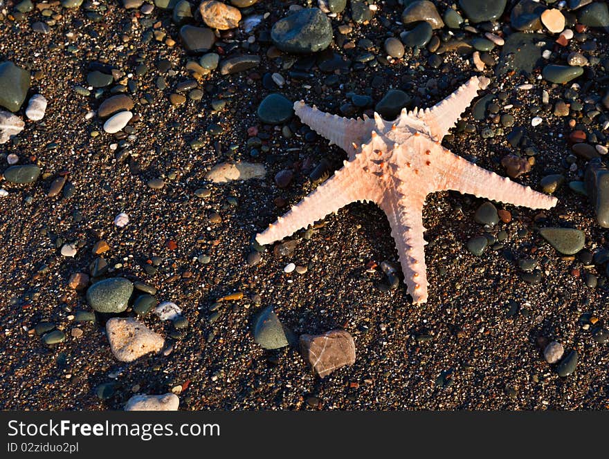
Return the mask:
<svg viewBox="0 0 609 459">
<path fill-rule="evenodd" d="M 399 261 L 404 274 L 404 283 L 415 304 L 427 302 L 427 273 L 423 238 L 423 204 L 425 196 L 399 192 L 385 195 L 380 203 L 391 227 Z"/>
</svg>

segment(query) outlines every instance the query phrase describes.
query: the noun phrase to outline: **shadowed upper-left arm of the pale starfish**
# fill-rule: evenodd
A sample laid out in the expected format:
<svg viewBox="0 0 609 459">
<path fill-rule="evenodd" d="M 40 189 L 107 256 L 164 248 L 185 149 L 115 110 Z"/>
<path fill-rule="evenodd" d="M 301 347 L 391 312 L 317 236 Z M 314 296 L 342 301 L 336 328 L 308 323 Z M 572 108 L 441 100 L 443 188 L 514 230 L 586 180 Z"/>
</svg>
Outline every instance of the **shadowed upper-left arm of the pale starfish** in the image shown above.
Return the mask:
<svg viewBox="0 0 609 459">
<path fill-rule="evenodd" d="M 313 131 L 327 138 L 330 144 L 336 144 L 347 151 L 349 160 L 355 158 L 357 147 L 370 138 L 370 133 L 375 127 L 374 121 L 369 118 L 365 120 L 341 118 L 338 115 L 319 111 L 314 105 L 310 107 L 302 100 L 294 103 L 294 113 Z M 356 144 L 356 147 L 353 144 Z"/>
</svg>

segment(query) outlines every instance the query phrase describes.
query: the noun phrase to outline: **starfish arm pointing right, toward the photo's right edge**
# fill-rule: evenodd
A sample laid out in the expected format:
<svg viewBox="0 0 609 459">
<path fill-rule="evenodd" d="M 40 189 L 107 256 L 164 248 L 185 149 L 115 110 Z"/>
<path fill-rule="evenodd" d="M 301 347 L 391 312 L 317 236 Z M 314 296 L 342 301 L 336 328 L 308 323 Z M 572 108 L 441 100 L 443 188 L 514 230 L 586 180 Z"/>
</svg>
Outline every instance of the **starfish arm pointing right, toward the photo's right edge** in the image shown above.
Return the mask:
<svg viewBox="0 0 609 459">
<path fill-rule="evenodd" d="M 549 209 L 558 202 L 554 196 L 534 191 L 531 187 L 525 187 L 507 177 L 487 171 L 448 150 L 444 151 L 446 162 L 442 177 L 437 184 L 438 191 L 453 189 L 460 193 L 473 194 L 478 198 L 531 209 Z"/>
</svg>

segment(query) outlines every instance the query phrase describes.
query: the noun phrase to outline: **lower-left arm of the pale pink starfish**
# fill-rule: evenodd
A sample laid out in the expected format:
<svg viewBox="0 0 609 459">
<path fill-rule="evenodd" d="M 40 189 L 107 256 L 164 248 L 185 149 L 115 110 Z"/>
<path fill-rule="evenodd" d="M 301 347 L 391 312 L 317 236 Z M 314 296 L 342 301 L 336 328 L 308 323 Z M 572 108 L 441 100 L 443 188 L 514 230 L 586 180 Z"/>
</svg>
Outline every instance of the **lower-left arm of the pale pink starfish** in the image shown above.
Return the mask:
<svg viewBox="0 0 609 459">
<path fill-rule="evenodd" d="M 262 245 L 280 241 L 282 238 L 307 227 L 321 218 L 338 211 L 341 207 L 358 200 L 377 200 L 379 189 L 370 178 L 364 176 L 363 157 L 345 161 L 334 176 L 322 183 L 309 196 L 262 233 L 256 241 Z"/>
</svg>

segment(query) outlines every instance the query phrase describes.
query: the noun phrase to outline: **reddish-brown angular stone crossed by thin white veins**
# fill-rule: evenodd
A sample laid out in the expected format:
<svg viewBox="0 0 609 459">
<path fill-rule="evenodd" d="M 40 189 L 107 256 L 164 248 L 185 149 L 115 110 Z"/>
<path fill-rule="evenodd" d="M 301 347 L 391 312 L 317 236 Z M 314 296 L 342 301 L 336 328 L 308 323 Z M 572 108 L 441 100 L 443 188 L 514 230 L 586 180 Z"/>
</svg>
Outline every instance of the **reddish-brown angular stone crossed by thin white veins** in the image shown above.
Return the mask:
<svg viewBox="0 0 609 459">
<path fill-rule="evenodd" d="M 319 377 L 355 363 L 355 342 L 346 330 L 301 335 L 300 353 Z"/>
</svg>

